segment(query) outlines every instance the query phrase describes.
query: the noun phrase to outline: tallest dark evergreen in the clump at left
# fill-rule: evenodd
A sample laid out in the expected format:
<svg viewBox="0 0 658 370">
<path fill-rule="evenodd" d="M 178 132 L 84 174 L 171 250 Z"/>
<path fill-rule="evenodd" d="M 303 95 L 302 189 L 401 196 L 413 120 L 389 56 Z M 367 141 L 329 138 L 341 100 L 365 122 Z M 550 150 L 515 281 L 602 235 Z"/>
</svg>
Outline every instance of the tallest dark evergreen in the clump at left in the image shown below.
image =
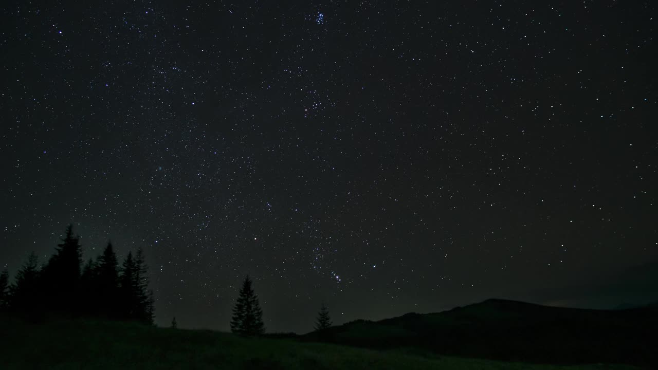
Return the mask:
<svg viewBox="0 0 658 370">
<path fill-rule="evenodd" d="M 47 306 L 53 311 L 78 313 L 81 311 L 80 269 L 82 250 L 80 237 L 74 236 L 73 225 L 66 227 L 66 236 L 57 244 L 43 271 L 43 282 L 47 294 Z"/>
</svg>

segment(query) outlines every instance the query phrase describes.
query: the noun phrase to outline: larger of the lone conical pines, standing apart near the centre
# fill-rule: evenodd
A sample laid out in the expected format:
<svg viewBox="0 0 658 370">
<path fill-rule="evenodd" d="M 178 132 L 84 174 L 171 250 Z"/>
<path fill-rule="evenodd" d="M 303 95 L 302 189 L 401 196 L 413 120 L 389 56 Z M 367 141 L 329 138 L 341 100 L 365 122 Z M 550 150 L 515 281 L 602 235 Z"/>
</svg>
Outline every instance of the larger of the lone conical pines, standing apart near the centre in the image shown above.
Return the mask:
<svg viewBox="0 0 658 370">
<path fill-rule="evenodd" d="M 258 335 L 265 332 L 263 310 L 251 284 L 251 279 L 247 275 L 242 283 L 238 301 L 233 307 L 231 331 L 237 334 Z"/>
</svg>

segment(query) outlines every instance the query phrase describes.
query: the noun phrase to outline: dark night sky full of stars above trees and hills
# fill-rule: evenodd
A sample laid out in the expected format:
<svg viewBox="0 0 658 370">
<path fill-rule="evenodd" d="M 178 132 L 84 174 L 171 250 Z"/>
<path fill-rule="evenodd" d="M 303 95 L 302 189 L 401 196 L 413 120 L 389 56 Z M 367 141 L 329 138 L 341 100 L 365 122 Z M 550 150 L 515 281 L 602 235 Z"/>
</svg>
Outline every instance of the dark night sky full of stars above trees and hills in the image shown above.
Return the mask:
<svg viewBox="0 0 658 370">
<path fill-rule="evenodd" d="M 73 223 L 159 325 L 228 330 L 247 273 L 269 332 L 658 300 L 652 1 L 0 7 L 11 278 Z"/>
</svg>

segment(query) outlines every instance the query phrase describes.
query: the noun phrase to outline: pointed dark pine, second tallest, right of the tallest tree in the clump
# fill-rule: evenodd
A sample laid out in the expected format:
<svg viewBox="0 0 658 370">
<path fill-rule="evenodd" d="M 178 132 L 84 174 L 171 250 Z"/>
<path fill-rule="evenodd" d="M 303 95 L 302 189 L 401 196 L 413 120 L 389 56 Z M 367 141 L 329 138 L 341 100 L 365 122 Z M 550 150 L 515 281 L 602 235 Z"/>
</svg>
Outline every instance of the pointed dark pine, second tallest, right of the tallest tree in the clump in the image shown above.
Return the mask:
<svg viewBox="0 0 658 370">
<path fill-rule="evenodd" d="M 119 276 L 118 262 L 116 261 L 112 242 L 107 242 L 103 254 L 98 257 L 95 275 L 99 298 L 97 311 L 106 317 L 117 317 Z"/>
</svg>

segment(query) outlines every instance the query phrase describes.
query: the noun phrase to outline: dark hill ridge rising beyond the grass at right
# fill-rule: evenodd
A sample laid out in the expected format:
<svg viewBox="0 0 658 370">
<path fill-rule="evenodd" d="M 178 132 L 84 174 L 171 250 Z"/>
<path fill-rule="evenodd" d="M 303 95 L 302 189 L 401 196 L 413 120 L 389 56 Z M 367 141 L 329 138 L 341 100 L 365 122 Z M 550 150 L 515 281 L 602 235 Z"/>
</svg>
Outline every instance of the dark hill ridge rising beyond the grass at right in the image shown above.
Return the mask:
<svg viewBox="0 0 658 370">
<path fill-rule="evenodd" d="M 658 367 L 656 305 L 625 310 L 486 300 L 441 313 L 353 321 L 303 340 L 407 348 L 451 356 L 535 363 L 628 363 Z"/>
</svg>

